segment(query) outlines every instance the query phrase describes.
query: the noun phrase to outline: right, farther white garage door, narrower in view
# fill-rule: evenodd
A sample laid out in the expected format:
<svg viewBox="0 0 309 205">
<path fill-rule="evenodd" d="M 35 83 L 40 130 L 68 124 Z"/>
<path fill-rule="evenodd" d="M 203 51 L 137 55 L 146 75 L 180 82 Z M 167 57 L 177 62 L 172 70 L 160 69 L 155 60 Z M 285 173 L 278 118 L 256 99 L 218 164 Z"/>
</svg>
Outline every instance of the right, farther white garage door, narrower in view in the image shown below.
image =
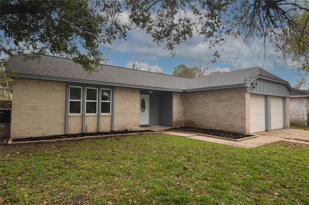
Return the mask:
<svg viewBox="0 0 309 205">
<path fill-rule="evenodd" d="M 271 128 L 283 128 L 283 102 L 281 97 L 271 97 Z"/>
</svg>

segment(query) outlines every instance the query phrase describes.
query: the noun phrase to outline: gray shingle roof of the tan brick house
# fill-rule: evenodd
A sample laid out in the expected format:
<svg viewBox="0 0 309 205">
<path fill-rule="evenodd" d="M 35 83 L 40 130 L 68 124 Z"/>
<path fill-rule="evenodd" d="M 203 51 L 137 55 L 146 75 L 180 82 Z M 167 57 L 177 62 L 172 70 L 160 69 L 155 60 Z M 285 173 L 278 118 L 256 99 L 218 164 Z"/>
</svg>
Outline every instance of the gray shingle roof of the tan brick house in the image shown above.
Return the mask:
<svg viewBox="0 0 309 205">
<path fill-rule="evenodd" d="M 257 75 L 283 81 L 281 78 L 260 67 L 189 79 L 109 65 L 102 65 L 102 70 L 89 75 L 82 69 L 81 65 L 75 64 L 71 59 L 67 58 L 41 55 L 39 63 L 37 59 L 26 61 L 23 59 L 24 57 L 20 55 L 10 57 L 6 71 L 12 72 L 14 69 L 19 74 L 32 74 L 56 78 L 72 78 L 180 90 L 243 84 Z"/>
</svg>

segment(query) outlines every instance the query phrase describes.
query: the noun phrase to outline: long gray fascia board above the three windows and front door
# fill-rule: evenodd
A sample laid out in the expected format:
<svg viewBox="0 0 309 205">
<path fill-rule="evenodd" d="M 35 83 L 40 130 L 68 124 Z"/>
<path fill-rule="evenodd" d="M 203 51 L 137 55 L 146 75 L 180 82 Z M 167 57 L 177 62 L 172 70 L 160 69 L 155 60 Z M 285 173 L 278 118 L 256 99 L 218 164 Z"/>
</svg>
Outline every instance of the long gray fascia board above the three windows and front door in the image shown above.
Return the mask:
<svg viewBox="0 0 309 205">
<path fill-rule="evenodd" d="M 144 89 L 146 88 L 146 89 L 150 89 L 150 90 L 164 90 L 164 91 L 183 92 L 182 89 L 129 85 L 129 84 L 122 84 L 122 83 L 102 82 L 102 81 L 95 81 L 95 80 L 83 80 L 83 79 L 63 78 L 63 77 L 53 77 L 53 76 L 33 75 L 33 74 L 18 74 L 17 77 L 18 78 L 38 79 L 38 80 L 59 81 L 59 82 L 77 82 L 77 83 L 88 83 L 88 84 L 91 83 L 91 84 L 97 84 L 97 85 L 144 88 Z"/>
</svg>

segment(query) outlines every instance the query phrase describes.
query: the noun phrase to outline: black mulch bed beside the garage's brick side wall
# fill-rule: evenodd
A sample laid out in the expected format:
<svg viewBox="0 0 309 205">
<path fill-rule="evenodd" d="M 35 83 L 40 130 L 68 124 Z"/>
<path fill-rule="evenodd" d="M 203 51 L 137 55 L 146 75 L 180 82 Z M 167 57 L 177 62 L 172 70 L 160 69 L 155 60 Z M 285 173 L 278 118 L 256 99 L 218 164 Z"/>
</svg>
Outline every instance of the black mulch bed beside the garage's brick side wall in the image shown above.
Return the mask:
<svg viewBox="0 0 309 205">
<path fill-rule="evenodd" d="M 198 128 L 198 127 L 174 127 L 174 128 L 169 129 L 169 130 L 194 132 L 194 133 L 198 133 L 198 134 L 213 135 L 213 136 L 225 137 L 225 138 L 230 138 L 230 139 L 241 139 L 241 138 L 253 136 L 253 135 L 243 135 L 243 134 L 239 134 L 239 133 L 236 133 L 236 132 L 203 129 L 203 128 Z"/>
</svg>

